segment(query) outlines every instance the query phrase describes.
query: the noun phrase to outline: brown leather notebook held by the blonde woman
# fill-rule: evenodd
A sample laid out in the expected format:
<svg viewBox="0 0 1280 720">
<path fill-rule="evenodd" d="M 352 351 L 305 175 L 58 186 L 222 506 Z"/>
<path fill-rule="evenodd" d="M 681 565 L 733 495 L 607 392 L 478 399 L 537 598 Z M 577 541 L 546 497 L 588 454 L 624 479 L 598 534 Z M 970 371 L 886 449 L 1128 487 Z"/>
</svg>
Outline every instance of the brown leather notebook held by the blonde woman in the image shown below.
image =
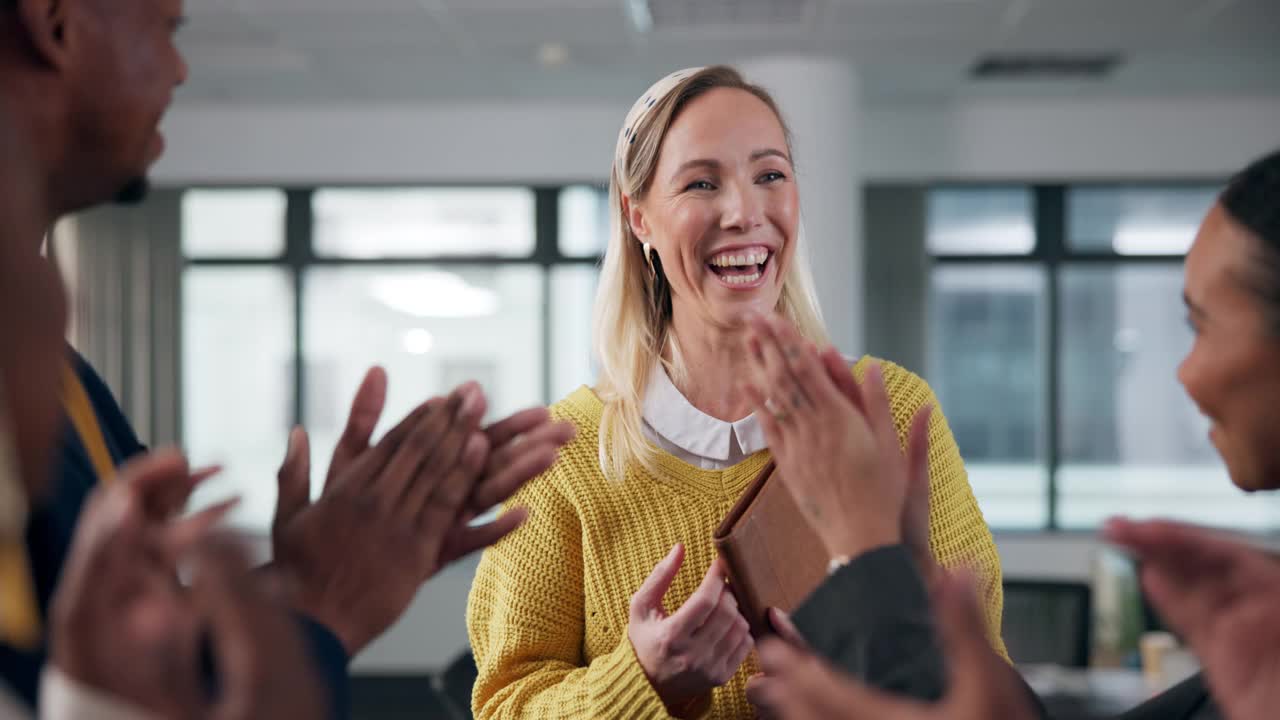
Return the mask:
<svg viewBox="0 0 1280 720">
<path fill-rule="evenodd" d="M 827 578 L 827 551 L 769 462 L 716 529 L 716 550 L 751 634 L 773 629 L 767 612 L 791 612 Z"/>
</svg>

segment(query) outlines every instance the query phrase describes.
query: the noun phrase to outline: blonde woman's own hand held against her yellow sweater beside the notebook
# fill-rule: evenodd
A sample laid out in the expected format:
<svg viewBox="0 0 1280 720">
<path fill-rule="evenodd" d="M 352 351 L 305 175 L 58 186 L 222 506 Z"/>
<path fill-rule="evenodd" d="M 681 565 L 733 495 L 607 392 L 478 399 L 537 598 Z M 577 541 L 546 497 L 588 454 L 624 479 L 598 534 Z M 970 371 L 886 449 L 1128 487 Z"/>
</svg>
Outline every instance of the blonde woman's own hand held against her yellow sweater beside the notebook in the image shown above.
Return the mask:
<svg viewBox="0 0 1280 720">
<path fill-rule="evenodd" d="M 631 597 L 627 626 L 649 683 L 677 717 L 696 715 L 755 647 L 719 559 L 680 610 L 667 615 L 662 598 L 684 561 L 685 547 L 677 544 L 658 562 Z"/>
</svg>

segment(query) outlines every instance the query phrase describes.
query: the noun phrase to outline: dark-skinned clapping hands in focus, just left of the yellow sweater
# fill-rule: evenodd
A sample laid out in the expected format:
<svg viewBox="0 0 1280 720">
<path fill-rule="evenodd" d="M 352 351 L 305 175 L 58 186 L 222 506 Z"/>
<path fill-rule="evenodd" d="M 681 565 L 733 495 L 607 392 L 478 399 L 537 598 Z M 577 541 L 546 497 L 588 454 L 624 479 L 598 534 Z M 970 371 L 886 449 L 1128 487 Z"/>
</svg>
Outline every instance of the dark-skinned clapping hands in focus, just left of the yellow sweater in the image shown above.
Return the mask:
<svg viewBox="0 0 1280 720">
<path fill-rule="evenodd" d="M 554 462 L 572 428 L 545 410 L 481 429 L 486 400 L 474 383 L 433 398 L 370 445 L 387 378 L 371 370 L 352 405 L 324 492 L 310 501 L 310 448 L 296 429 L 279 473 L 273 569 L 294 606 L 356 655 L 394 623 L 448 562 L 515 530 L 515 510 L 470 523 Z"/>
</svg>

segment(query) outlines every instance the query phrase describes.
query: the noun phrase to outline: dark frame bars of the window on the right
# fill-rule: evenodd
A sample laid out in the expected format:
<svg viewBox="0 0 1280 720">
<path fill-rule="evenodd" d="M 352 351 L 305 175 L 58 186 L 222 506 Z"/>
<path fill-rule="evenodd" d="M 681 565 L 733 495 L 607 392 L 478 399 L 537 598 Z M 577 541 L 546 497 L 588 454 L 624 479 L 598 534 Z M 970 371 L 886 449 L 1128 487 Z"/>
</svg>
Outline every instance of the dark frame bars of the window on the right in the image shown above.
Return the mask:
<svg viewBox="0 0 1280 720">
<path fill-rule="evenodd" d="M 950 183 L 940 182 L 928 184 L 928 190 L 943 188 L 1009 188 L 1027 187 L 1032 191 L 1032 225 L 1036 229 L 1036 245 L 1029 254 L 1021 255 L 931 255 L 933 266 L 943 265 L 1023 265 L 1044 269 L 1046 277 L 1046 315 L 1048 327 L 1044 357 L 1043 378 L 1044 389 L 1044 465 L 1048 470 L 1048 523 L 1043 530 L 1064 532 L 1059 523 L 1059 487 L 1057 475 L 1062 465 L 1062 437 L 1061 437 L 1061 368 L 1060 351 L 1062 350 L 1062 288 L 1061 275 L 1064 268 L 1070 265 L 1097 264 L 1107 266 L 1120 265 L 1160 265 L 1170 266 L 1183 264 L 1183 255 L 1121 255 L 1115 251 L 1080 251 L 1073 250 L 1068 243 L 1068 193 L 1075 188 L 1203 188 L 1222 184 L 1222 178 L 1204 181 L 1102 181 L 1102 182 L 1073 182 L 1073 183 L 1028 183 L 1025 181 L 1010 182 L 982 182 L 982 183 Z"/>
</svg>

